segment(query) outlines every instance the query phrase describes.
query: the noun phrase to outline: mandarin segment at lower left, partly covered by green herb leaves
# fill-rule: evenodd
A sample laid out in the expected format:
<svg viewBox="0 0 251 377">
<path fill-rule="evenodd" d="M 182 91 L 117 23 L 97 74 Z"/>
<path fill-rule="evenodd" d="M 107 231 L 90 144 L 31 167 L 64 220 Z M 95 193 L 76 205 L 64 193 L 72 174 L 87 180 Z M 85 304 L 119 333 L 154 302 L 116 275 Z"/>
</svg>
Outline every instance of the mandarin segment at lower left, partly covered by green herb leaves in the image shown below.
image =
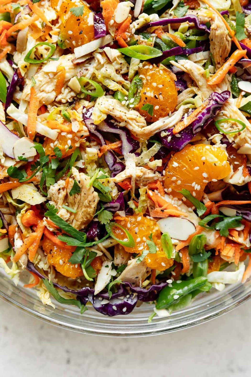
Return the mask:
<svg viewBox="0 0 251 377">
<path fill-rule="evenodd" d="M 64 247 L 59 248 L 45 236 L 43 238 L 42 247 L 45 254 L 47 254 L 47 261 L 62 275 L 71 277 L 72 279 L 83 275 L 82 268 L 79 264 L 75 265 L 68 262 L 75 247 L 72 248 L 72 251 Z"/>
</svg>

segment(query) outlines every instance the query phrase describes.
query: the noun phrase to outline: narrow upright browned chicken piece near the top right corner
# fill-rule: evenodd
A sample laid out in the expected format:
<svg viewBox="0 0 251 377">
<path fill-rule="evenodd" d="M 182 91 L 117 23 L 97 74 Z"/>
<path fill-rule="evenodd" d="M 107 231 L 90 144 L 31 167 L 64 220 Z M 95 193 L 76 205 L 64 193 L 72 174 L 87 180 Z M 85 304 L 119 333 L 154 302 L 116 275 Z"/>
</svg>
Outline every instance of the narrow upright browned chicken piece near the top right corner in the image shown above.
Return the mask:
<svg viewBox="0 0 251 377">
<path fill-rule="evenodd" d="M 225 63 L 225 59 L 230 53 L 231 38 L 228 35 L 226 26 L 219 16 L 215 15 L 210 23 L 210 52 L 213 55 L 216 69 L 219 69 L 222 64 Z"/>
</svg>

